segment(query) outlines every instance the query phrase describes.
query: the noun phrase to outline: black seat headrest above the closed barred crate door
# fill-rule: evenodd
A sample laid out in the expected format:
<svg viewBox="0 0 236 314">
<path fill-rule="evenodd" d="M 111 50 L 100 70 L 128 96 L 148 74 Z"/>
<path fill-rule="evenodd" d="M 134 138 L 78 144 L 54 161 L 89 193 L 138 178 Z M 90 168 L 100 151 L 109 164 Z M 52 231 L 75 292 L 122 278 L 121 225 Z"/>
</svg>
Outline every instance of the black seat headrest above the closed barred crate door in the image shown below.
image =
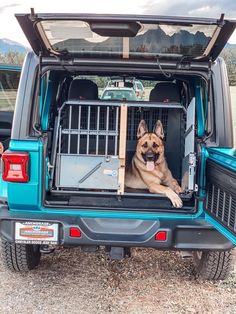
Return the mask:
<svg viewBox="0 0 236 314">
<path fill-rule="evenodd" d="M 70 83 L 68 100 L 72 99 L 87 99 L 96 100 L 98 99 L 98 87 L 91 81 L 86 79 L 74 79 Z"/>
</svg>

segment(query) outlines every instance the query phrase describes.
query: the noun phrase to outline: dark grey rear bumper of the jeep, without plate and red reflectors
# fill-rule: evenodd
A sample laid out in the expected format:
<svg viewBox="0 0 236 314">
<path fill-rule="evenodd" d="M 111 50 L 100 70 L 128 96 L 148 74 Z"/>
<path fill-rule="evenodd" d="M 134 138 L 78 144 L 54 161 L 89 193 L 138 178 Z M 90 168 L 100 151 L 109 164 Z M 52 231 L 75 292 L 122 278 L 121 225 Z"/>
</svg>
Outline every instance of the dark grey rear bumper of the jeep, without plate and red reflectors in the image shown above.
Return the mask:
<svg viewBox="0 0 236 314">
<path fill-rule="evenodd" d="M 47 221 L 59 224 L 59 244 L 64 246 L 151 247 L 169 250 L 228 250 L 233 244 L 204 220 L 141 220 L 82 218 L 75 215 L 9 211 L 0 205 L 0 234 L 14 242 L 15 221 Z M 81 230 L 80 238 L 70 237 L 70 228 Z M 157 231 L 167 240 L 156 241 Z"/>
</svg>

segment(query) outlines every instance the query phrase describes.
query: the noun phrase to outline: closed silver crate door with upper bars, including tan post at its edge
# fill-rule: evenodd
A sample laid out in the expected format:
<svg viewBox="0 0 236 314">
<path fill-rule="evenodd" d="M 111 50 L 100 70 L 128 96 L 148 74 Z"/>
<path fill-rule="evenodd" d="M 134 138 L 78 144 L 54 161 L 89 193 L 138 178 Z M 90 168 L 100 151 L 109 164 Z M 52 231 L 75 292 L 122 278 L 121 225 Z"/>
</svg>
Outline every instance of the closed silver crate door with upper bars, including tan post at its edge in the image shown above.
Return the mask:
<svg viewBox="0 0 236 314">
<path fill-rule="evenodd" d="M 127 106 L 70 104 L 67 112 L 68 123 L 59 131 L 57 188 L 122 194 Z"/>
</svg>

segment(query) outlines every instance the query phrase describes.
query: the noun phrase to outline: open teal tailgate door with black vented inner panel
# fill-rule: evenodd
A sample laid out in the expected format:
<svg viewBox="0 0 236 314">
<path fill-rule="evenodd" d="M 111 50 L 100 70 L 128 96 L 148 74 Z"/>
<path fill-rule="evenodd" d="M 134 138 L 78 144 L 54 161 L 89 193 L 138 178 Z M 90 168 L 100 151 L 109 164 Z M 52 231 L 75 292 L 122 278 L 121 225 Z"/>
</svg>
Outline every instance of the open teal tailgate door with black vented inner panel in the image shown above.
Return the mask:
<svg viewBox="0 0 236 314">
<path fill-rule="evenodd" d="M 206 220 L 236 245 L 236 151 L 209 148 Z"/>
</svg>

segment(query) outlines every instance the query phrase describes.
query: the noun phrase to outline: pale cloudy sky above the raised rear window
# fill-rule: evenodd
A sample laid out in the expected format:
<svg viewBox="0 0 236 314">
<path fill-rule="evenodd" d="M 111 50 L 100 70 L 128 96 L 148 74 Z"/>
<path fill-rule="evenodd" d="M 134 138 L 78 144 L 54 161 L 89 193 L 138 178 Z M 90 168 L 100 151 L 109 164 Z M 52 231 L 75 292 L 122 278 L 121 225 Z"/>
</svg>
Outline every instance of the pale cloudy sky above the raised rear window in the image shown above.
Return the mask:
<svg viewBox="0 0 236 314">
<path fill-rule="evenodd" d="M 29 46 L 15 13 L 121 13 L 171 16 L 196 16 L 236 20 L 235 0 L 1 0 L 0 38 Z M 230 43 L 236 44 L 236 31 Z"/>
</svg>

